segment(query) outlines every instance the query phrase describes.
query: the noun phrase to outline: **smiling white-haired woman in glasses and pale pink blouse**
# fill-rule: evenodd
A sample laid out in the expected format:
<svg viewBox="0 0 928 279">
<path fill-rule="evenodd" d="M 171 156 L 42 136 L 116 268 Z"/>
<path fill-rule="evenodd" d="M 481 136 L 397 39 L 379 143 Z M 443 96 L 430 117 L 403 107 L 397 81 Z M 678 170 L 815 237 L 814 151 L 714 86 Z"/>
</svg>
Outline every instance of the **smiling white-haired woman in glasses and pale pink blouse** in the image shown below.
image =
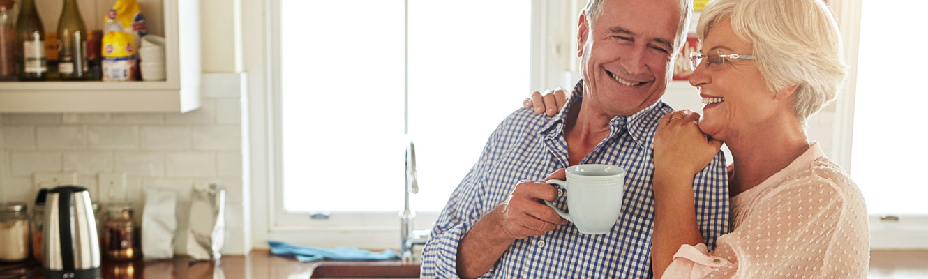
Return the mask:
<svg viewBox="0 0 928 279">
<path fill-rule="evenodd" d="M 667 114 L 654 139 L 655 277 L 866 277 L 863 197 L 805 129 L 846 72 L 829 8 L 820 0 L 715 0 L 697 32 L 690 84 L 705 104 L 702 119 Z M 535 107 L 560 101 L 546 98 Z M 692 180 L 723 142 L 734 158 L 732 231 L 708 251 Z"/>
</svg>

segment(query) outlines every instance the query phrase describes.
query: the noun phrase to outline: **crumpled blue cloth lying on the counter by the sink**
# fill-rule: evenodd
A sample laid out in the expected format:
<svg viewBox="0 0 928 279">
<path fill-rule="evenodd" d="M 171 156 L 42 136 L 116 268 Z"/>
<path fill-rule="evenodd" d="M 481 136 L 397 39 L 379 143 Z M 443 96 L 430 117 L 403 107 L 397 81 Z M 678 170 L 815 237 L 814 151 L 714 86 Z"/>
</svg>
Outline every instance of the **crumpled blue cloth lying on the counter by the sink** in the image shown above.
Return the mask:
<svg viewBox="0 0 928 279">
<path fill-rule="evenodd" d="M 296 256 L 296 260 L 307 262 L 313 260 L 393 260 L 399 259 L 399 253 L 391 249 L 382 252 L 371 252 L 357 247 L 319 248 L 309 246 L 295 246 L 277 241 L 268 241 L 271 253 L 281 256 Z"/>
</svg>

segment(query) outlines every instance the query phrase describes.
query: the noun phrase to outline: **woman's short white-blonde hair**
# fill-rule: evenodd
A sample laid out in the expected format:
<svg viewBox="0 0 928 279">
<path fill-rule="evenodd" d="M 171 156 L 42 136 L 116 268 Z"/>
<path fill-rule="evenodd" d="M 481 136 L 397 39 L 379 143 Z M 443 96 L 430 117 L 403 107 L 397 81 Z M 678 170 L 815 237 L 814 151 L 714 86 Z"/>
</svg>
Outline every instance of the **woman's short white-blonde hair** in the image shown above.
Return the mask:
<svg viewBox="0 0 928 279">
<path fill-rule="evenodd" d="M 711 1 L 696 27 L 700 42 L 725 19 L 741 40 L 754 44 L 767 88 L 780 92 L 798 85 L 793 110 L 801 120 L 834 99 L 847 65 L 838 23 L 821 0 Z"/>
</svg>

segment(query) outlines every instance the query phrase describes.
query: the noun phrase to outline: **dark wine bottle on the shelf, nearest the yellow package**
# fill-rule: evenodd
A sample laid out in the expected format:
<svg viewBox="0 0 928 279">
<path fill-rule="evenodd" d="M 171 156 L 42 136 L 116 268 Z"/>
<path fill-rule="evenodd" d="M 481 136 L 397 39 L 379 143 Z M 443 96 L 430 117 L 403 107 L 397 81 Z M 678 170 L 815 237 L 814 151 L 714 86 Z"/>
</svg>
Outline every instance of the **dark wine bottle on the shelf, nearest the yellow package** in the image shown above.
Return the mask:
<svg viewBox="0 0 928 279">
<path fill-rule="evenodd" d="M 87 28 L 77 0 L 64 0 L 58 19 L 58 77 L 65 81 L 86 80 Z"/>
</svg>

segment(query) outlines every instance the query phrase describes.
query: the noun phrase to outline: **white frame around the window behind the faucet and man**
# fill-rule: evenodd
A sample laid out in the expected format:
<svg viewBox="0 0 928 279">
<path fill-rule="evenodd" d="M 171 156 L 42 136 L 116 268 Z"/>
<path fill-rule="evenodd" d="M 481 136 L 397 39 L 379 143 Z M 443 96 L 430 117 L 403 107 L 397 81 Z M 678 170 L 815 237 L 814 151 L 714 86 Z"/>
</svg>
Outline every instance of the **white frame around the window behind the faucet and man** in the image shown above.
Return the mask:
<svg viewBox="0 0 928 279">
<path fill-rule="evenodd" d="M 252 214 L 251 239 L 254 247 L 267 247 L 267 240 L 285 241 L 294 244 L 319 247 L 399 247 L 399 209 L 402 200 L 387 201 L 396 204 L 395 212 L 332 214 L 329 220 L 312 220 L 308 214 L 289 213 L 283 209 L 280 195 L 279 108 L 280 51 L 275 49 L 280 42 L 279 6 L 281 0 L 256 0 L 243 2 L 243 37 L 246 70 L 249 72 L 249 95 L 246 107 L 249 121 L 247 139 L 249 152 L 244 180 L 251 184 Z M 565 72 L 575 64 L 571 53 L 575 32 L 572 22 L 575 13 L 586 4 L 586 0 L 533 0 L 532 1 L 532 53 L 530 74 L 531 88 L 565 86 L 573 79 Z M 573 28 L 566 28 L 566 27 Z M 547 53 L 542 56 L 540 53 Z M 561 58 L 558 58 L 561 57 Z M 541 65 L 542 67 L 537 67 Z M 575 67 L 573 67 L 575 68 Z M 543 69 L 543 70 L 537 70 Z M 548 81 L 548 82 L 542 82 Z M 566 84 L 571 86 L 573 84 Z M 518 108 L 519 104 L 513 104 Z M 402 164 L 402 162 L 399 162 Z M 402 166 L 402 165 L 400 165 Z M 402 167 L 401 167 L 402 168 Z M 397 188 L 400 191 L 400 188 Z M 437 220 L 437 211 L 419 211 L 416 229 L 426 229 Z"/>
</svg>

